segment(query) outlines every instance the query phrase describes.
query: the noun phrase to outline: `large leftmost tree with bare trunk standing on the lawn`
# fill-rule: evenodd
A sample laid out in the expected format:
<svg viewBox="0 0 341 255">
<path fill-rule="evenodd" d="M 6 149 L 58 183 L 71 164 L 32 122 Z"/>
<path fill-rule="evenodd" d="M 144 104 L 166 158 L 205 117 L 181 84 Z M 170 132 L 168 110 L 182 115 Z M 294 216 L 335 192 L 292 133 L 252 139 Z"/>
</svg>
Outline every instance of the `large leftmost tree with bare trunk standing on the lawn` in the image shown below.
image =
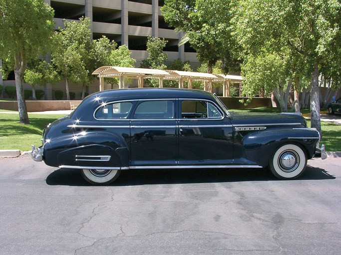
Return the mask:
<svg viewBox="0 0 341 255">
<path fill-rule="evenodd" d="M 23 93 L 26 63 L 48 51 L 54 31 L 53 9 L 43 0 L 0 0 L 0 58 L 14 63 L 19 120 L 29 124 Z"/>
</svg>

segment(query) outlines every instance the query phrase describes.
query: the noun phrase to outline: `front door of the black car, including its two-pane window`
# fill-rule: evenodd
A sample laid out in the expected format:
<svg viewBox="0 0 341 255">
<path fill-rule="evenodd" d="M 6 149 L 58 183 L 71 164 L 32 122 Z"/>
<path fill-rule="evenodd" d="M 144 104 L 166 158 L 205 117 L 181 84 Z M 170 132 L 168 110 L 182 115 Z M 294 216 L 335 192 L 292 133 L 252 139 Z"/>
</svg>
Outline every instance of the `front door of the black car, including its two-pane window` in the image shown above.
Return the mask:
<svg viewBox="0 0 341 255">
<path fill-rule="evenodd" d="M 218 166 L 233 161 L 233 127 L 211 101 L 179 100 L 179 165 Z"/>
</svg>

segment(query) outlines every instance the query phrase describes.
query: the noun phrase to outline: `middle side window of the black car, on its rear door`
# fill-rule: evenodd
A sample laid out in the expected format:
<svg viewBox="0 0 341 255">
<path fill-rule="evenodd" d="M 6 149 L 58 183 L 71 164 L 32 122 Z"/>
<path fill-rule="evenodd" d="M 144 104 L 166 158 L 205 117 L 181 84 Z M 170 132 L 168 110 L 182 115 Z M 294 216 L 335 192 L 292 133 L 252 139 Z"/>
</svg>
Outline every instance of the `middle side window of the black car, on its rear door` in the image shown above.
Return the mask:
<svg viewBox="0 0 341 255">
<path fill-rule="evenodd" d="M 145 101 L 138 105 L 135 119 L 173 119 L 174 104 L 170 100 Z"/>
</svg>

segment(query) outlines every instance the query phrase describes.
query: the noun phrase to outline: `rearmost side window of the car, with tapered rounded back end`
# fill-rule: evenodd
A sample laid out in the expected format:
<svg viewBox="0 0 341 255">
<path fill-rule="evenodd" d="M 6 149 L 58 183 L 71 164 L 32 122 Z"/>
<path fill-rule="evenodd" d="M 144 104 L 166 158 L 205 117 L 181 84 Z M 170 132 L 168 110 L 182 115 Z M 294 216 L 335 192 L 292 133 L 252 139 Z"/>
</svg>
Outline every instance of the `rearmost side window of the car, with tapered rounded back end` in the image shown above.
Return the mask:
<svg viewBox="0 0 341 255">
<path fill-rule="evenodd" d="M 125 119 L 131 110 L 131 102 L 120 102 L 114 104 L 103 104 L 96 113 L 97 119 Z"/>
</svg>

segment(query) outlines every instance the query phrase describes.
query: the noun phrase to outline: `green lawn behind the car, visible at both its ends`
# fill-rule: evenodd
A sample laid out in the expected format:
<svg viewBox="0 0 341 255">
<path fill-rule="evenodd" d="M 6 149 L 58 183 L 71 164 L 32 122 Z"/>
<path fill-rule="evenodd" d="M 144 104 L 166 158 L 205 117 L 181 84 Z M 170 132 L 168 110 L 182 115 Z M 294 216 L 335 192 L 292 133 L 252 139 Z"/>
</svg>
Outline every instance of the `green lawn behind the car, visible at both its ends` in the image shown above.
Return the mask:
<svg viewBox="0 0 341 255">
<path fill-rule="evenodd" d="M 255 108 L 243 110 L 231 110 L 233 112 L 253 112 L 253 113 L 278 113 L 277 108 Z M 63 115 L 50 114 L 28 114 L 30 125 L 19 124 L 17 112 L 0 110 L 0 149 L 19 149 L 30 150 L 31 144 L 41 144 L 42 129 L 47 124 L 62 117 Z M 304 110 L 304 115 L 309 116 L 309 111 Z M 310 121 L 307 120 L 308 127 Z M 327 151 L 341 151 L 341 125 L 321 122 L 323 140 L 321 143 L 326 145 Z"/>
</svg>

